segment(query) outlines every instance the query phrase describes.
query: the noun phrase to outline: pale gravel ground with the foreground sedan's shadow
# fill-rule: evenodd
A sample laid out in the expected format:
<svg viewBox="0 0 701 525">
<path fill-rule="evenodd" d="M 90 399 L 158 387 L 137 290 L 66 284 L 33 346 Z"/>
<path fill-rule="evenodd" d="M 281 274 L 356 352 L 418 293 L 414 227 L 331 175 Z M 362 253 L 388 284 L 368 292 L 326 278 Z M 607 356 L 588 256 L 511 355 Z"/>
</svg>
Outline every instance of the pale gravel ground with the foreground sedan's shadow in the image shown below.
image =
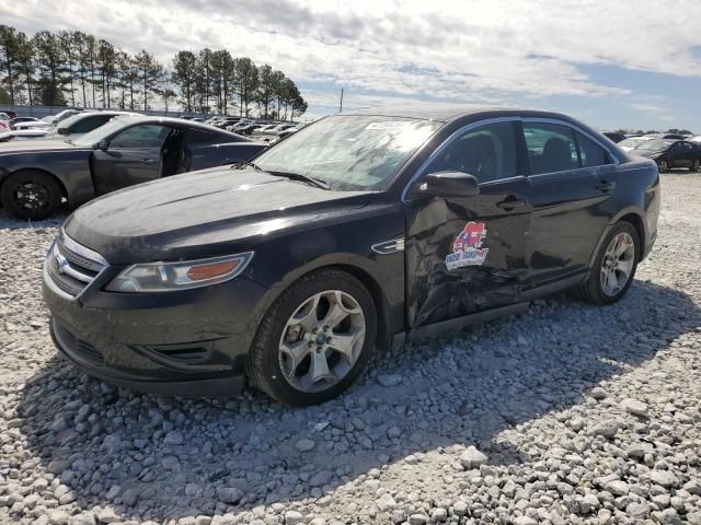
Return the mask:
<svg viewBox="0 0 701 525">
<path fill-rule="evenodd" d="M 342 398 L 159 398 L 56 355 L 59 220 L 0 217 L 0 523 L 701 524 L 701 177 L 664 176 L 628 298 L 386 354 Z"/>
</svg>

